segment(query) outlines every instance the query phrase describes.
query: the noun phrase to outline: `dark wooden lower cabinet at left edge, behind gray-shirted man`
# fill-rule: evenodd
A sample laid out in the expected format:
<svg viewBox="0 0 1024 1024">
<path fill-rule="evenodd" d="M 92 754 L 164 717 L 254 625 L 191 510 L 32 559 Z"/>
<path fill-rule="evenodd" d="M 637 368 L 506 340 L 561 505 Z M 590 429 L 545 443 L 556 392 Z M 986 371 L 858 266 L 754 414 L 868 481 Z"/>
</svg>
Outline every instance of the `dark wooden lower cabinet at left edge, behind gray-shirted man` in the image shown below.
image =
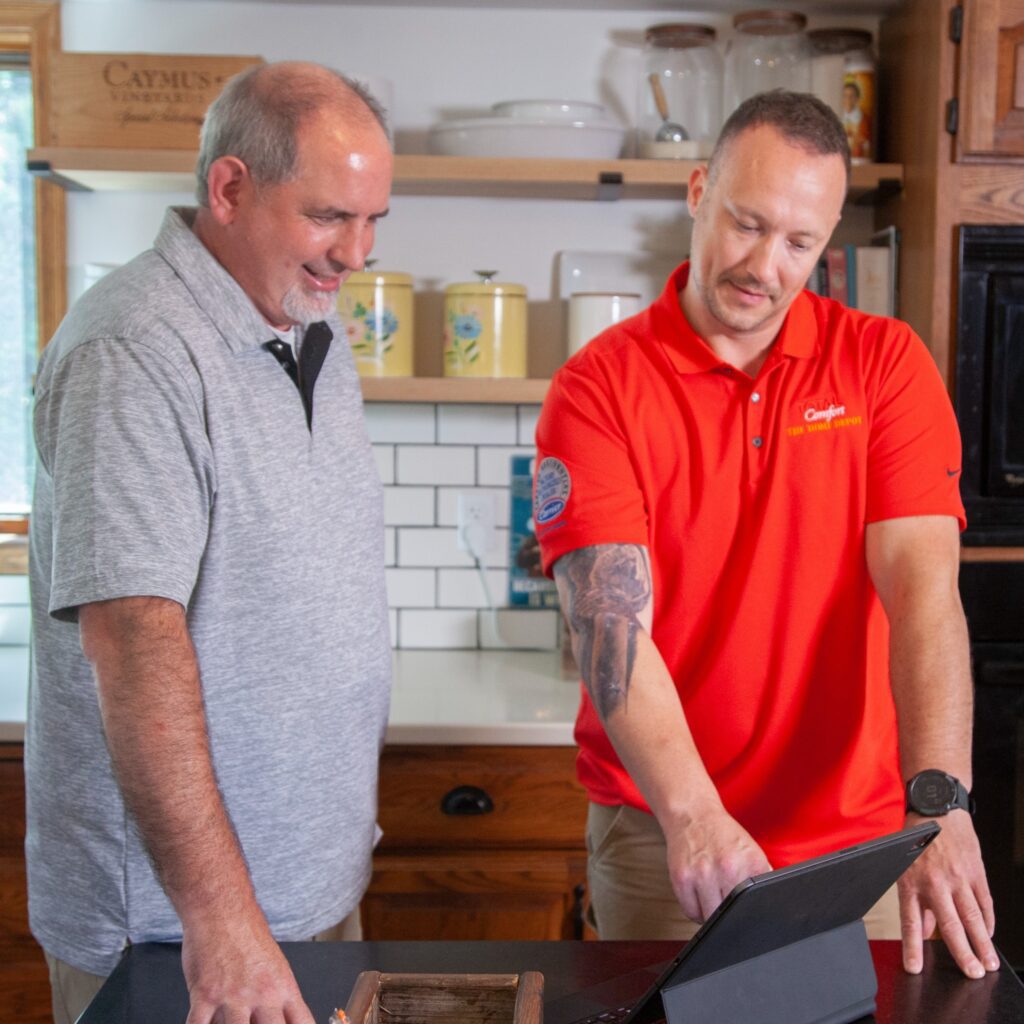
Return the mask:
<svg viewBox="0 0 1024 1024">
<path fill-rule="evenodd" d="M 0 1024 L 52 1019 L 46 962 L 29 931 L 23 748 L 0 743 Z"/>
</svg>

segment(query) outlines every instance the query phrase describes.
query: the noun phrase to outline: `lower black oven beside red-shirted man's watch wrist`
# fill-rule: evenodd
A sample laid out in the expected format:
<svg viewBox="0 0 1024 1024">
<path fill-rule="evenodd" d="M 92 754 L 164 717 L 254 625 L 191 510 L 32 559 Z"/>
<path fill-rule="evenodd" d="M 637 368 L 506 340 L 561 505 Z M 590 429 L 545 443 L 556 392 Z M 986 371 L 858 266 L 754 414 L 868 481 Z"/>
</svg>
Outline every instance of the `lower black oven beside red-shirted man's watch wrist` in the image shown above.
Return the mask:
<svg viewBox="0 0 1024 1024">
<path fill-rule="evenodd" d="M 965 562 L 961 594 L 975 682 L 975 827 L 995 941 L 1024 970 L 1024 562 Z"/>
</svg>

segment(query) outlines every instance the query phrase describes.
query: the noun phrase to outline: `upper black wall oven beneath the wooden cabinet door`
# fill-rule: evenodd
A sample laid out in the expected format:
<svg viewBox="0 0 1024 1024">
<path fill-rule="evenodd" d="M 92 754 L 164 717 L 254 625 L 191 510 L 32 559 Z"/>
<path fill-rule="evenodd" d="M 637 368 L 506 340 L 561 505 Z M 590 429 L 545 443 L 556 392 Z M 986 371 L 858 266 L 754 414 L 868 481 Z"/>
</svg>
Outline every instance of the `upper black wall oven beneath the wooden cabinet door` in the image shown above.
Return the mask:
<svg viewBox="0 0 1024 1024">
<path fill-rule="evenodd" d="M 967 545 L 1024 545 L 1024 225 L 959 228 L 955 406 Z"/>
</svg>

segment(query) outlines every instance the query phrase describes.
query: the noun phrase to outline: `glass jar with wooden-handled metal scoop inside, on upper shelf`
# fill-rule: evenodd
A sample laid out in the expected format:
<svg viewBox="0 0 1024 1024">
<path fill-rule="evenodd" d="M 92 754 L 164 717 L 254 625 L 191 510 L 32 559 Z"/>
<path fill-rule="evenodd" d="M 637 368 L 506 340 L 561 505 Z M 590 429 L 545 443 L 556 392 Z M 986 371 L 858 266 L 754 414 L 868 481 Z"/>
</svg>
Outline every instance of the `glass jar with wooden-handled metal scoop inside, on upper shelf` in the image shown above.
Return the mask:
<svg viewBox="0 0 1024 1024">
<path fill-rule="evenodd" d="M 637 154 L 700 158 L 722 127 L 722 55 L 707 25 L 654 25 L 644 35 Z"/>
</svg>

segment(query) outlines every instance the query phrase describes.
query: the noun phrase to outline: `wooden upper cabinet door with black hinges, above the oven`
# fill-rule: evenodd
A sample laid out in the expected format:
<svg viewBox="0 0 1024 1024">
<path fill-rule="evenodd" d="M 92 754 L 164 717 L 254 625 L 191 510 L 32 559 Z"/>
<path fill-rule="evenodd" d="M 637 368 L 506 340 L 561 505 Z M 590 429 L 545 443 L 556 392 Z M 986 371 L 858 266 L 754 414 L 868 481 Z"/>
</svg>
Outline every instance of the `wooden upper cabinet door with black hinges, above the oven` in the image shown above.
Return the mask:
<svg viewBox="0 0 1024 1024">
<path fill-rule="evenodd" d="M 1024 0 L 964 0 L 959 159 L 1024 158 Z"/>
</svg>

